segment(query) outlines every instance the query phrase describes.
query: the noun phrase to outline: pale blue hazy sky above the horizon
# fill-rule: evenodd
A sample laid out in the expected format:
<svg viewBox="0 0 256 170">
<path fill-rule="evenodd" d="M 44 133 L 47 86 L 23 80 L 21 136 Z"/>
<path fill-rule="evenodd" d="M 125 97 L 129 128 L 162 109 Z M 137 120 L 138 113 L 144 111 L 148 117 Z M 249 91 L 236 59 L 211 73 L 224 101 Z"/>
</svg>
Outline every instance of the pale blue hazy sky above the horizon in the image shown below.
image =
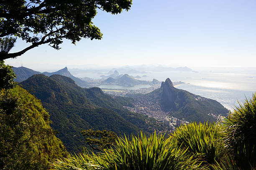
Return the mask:
<svg viewBox="0 0 256 170">
<path fill-rule="evenodd" d="M 256 0 L 133 0 L 119 15 L 99 11 L 102 40 L 41 45 L 16 59 L 35 70 L 88 65 L 256 67 Z M 18 40 L 11 52 L 28 46 Z"/>
</svg>

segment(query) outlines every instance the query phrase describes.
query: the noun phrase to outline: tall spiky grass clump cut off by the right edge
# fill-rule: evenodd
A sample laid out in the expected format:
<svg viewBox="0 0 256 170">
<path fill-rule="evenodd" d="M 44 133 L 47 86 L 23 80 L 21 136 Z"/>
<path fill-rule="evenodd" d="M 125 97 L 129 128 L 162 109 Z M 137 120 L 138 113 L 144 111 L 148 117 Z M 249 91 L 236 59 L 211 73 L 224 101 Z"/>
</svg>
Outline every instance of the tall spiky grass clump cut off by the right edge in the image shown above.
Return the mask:
<svg viewBox="0 0 256 170">
<path fill-rule="evenodd" d="M 243 169 L 256 168 L 256 94 L 223 121 L 225 147 Z"/>
</svg>

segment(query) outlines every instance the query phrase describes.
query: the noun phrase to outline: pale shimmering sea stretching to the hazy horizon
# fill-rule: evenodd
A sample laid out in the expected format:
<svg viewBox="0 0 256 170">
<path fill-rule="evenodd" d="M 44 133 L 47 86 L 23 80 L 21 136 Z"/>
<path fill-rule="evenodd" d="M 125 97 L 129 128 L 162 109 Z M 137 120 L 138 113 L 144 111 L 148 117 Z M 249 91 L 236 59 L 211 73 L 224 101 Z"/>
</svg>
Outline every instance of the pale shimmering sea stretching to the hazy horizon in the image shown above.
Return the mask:
<svg viewBox="0 0 256 170">
<path fill-rule="evenodd" d="M 246 97 L 252 97 L 256 90 L 255 67 L 198 67 L 193 68 L 193 70 L 197 72 L 148 71 L 143 74 L 131 75 L 141 76 L 140 80 L 152 81 L 155 78 L 159 81 L 165 81 L 169 77 L 172 81 L 185 82 L 186 84 L 178 85 L 177 88 L 217 100 L 230 110 L 239 106 L 238 101 L 243 102 Z M 80 74 L 78 77 L 81 76 Z M 83 76 L 100 78 L 98 74 Z"/>
</svg>

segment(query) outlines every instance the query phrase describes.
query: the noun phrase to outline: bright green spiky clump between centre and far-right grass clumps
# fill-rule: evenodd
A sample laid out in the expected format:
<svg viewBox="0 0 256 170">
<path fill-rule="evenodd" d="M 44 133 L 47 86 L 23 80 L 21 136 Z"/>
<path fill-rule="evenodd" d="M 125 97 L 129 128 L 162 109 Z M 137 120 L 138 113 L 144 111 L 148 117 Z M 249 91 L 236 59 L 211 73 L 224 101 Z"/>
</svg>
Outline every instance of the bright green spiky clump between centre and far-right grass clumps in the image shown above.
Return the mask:
<svg viewBox="0 0 256 170">
<path fill-rule="evenodd" d="M 215 123 L 190 123 L 182 125 L 170 137 L 171 143 L 177 141 L 177 145 L 187 150 L 195 158 L 199 158 L 204 164 L 212 164 L 223 156 L 223 136 L 220 126 Z"/>
</svg>

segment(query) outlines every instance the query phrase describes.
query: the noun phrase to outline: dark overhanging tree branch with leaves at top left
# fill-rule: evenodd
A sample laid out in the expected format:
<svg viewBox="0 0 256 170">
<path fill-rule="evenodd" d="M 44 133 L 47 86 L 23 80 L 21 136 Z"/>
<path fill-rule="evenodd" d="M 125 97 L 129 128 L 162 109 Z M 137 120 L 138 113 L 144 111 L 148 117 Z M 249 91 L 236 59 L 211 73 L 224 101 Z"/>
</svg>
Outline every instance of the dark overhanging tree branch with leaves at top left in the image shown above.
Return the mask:
<svg viewBox="0 0 256 170">
<path fill-rule="evenodd" d="M 132 0 L 1 0 L 0 37 L 14 35 L 30 45 L 14 53 L 1 51 L 0 60 L 46 43 L 59 50 L 63 39 L 73 44 L 82 38 L 100 40 L 102 33 L 92 23 L 97 9 L 118 14 L 131 4 Z"/>
</svg>

